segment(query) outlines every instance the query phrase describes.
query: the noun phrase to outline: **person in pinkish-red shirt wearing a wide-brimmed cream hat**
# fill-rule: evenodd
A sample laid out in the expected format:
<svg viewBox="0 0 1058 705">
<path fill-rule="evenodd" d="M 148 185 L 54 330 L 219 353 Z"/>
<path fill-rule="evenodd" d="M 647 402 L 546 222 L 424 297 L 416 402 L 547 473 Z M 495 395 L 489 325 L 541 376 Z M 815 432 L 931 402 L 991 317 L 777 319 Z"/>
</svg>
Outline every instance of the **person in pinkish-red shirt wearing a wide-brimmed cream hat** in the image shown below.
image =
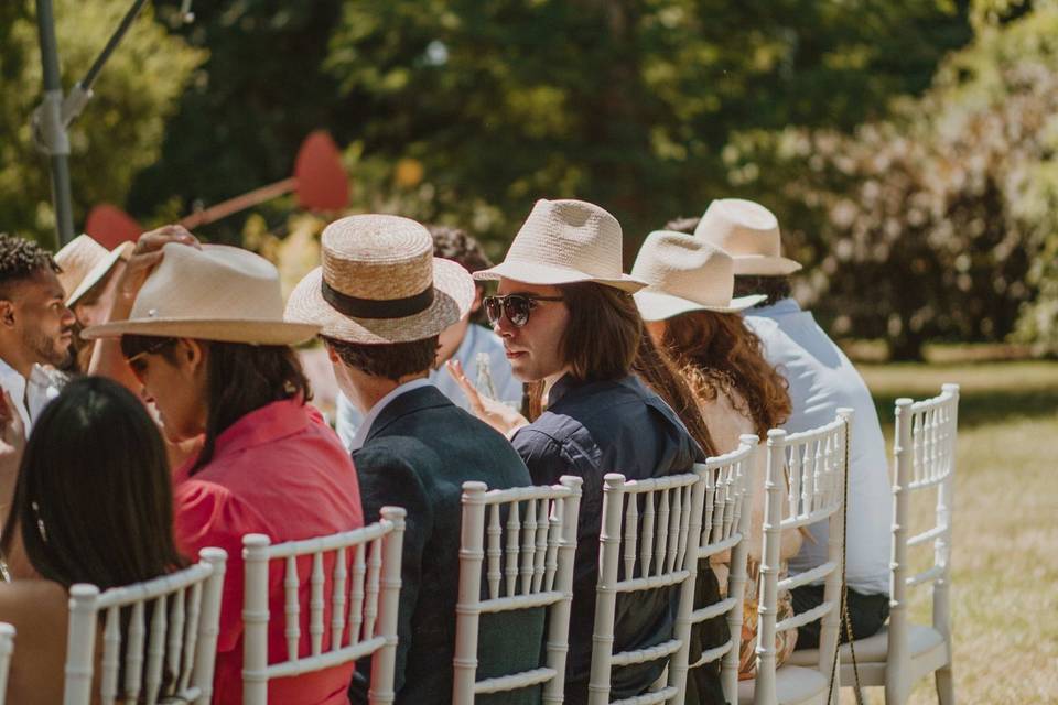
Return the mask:
<svg viewBox="0 0 1058 705">
<path fill-rule="evenodd" d="M 173 469 L 175 534 L 187 554 L 228 552 L 214 693 L 217 702 L 241 702 L 242 536 L 280 543 L 364 524 L 353 460 L 307 404 L 309 382 L 290 347 L 319 327 L 283 322 L 279 273 L 267 260 L 198 247 L 179 227 L 140 238 L 109 321 L 84 334 L 100 338 L 95 369 L 140 391 L 171 443 L 198 440 Z M 283 612 L 281 572 L 273 562 L 272 615 Z M 307 628 L 302 634 L 307 655 Z M 282 619 L 269 622 L 269 643 L 283 648 Z M 352 668 L 270 681 L 269 698 L 345 703 Z"/>
</svg>

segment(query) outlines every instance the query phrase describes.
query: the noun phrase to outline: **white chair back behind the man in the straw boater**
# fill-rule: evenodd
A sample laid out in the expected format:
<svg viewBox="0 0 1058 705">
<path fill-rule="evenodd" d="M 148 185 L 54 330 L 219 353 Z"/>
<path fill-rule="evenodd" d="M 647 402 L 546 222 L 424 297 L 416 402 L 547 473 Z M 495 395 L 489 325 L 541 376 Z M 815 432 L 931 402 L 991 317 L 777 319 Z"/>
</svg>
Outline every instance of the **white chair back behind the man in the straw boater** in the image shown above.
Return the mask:
<svg viewBox="0 0 1058 705">
<path fill-rule="evenodd" d="M 463 482 L 455 705 L 537 684 L 543 684 L 544 703 L 562 702 L 581 482 L 580 477 L 563 476 L 551 487 L 492 491 L 484 482 Z M 482 598 L 486 556 L 487 597 Z M 550 607 L 546 665 L 476 681 L 481 616 L 532 607 Z"/>
</svg>

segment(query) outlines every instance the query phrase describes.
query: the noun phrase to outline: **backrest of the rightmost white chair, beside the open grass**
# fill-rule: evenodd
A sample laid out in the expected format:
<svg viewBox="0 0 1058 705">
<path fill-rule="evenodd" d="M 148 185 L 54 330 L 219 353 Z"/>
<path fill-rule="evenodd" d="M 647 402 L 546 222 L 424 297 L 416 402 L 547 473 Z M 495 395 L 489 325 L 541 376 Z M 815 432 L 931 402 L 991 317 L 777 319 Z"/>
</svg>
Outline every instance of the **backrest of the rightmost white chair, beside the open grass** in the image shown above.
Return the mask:
<svg viewBox="0 0 1058 705">
<path fill-rule="evenodd" d="M 948 574 L 951 555 L 952 490 L 956 473 L 956 436 L 959 424 L 959 386 L 944 384 L 940 395 L 925 401 L 896 400 L 893 484 L 893 570 L 889 574 L 889 658 L 908 658 L 907 589 L 933 585 L 933 627 L 950 636 Z M 937 490 L 936 521 L 908 536 L 910 495 Z M 932 564 L 908 575 L 908 549 L 932 543 Z"/>
</svg>

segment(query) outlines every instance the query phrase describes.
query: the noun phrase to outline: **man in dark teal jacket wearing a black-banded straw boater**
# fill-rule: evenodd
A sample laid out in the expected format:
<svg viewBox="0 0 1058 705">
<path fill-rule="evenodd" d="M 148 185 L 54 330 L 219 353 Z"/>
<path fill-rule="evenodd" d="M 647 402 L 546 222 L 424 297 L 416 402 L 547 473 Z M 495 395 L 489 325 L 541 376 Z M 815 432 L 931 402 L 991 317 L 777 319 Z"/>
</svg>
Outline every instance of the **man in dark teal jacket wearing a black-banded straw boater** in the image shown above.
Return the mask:
<svg viewBox="0 0 1058 705">
<path fill-rule="evenodd" d="M 287 319 L 321 327 L 338 384 L 364 414 L 352 451 L 365 514 L 375 517 L 386 505 L 408 510 L 397 702 L 449 703 L 463 482 L 527 486 L 529 471 L 503 435 L 430 383 L 439 334 L 474 302 L 466 270 L 433 256 L 422 225 L 389 215 L 332 223 L 322 257 L 323 265 L 291 294 Z M 542 638 L 540 609 L 487 616 L 478 677 L 537 668 Z M 366 685 L 359 675 L 354 680 L 353 702 L 366 699 Z M 535 695 L 519 693 L 501 702 Z"/>
</svg>

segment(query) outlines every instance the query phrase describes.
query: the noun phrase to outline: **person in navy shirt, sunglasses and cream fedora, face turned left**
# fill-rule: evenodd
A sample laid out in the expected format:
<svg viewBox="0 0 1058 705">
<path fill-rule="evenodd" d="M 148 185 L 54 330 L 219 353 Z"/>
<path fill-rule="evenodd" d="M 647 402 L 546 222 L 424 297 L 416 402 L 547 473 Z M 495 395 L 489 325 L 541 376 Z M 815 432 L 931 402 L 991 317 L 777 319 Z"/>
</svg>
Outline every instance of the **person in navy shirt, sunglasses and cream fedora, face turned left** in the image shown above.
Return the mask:
<svg viewBox="0 0 1058 705">
<path fill-rule="evenodd" d="M 657 394 L 631 373 L 643 319 L 631 293 L 645 283 L 622 273 L 620 225 L 581 200 L 538 200 L 505 260 L 475 273 L 498 280 L 485 312 L 515 375 L 530 382 L 532 423 L 511 442 L 537 484 L 584 479 L 566 702 L 584 703 L 592 658 L 603 477 L 644 479 L 690 471 L 698 444 Z M 540 413 L 543 395 L 547 411 Z M 631 441 L 634 440 L 634 441 Z M 614 650 L 660 643 L 672 633 L 672 601 L 661 590 L 617 601 Z M 616 668 L 611 697 L 644 693 L 658 662 Z"/>
</svg>

